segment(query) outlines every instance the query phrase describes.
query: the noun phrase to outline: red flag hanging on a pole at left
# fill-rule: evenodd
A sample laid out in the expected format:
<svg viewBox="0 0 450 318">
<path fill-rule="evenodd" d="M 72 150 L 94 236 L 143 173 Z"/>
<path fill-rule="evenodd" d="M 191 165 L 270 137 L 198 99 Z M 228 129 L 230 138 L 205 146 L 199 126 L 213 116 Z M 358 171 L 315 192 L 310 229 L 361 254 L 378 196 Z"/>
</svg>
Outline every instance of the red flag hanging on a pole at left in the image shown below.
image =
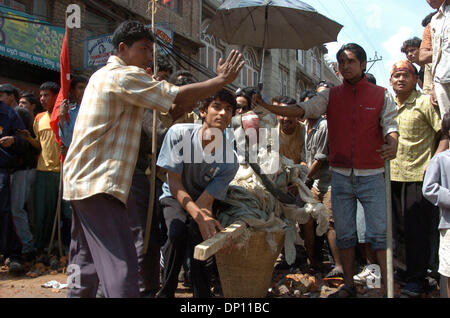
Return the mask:
<svg viewBox="0 0 450 318">
<path fill-rule="evenodd" d="M 70 90 L 70 60 L 69 60 L 69 30 L 66 26 L 66 32 L 64 34 L 63 45 L 61 48 L 61 89 L 59 90 L 58 97 L 56 98 L 55 106 L 53 107 L 52 116 L 50 118 L 50 127 L 53 130 L 55 135 L 55 140 L 58 145 L 62 145 L 61 138 L 59 136 L 59 109 L 61 107 L 61 103 L 65 99 L 69 99 L 69 90 Z M 61 157 L 62 161 L 62 157 Z"/>
</svg>

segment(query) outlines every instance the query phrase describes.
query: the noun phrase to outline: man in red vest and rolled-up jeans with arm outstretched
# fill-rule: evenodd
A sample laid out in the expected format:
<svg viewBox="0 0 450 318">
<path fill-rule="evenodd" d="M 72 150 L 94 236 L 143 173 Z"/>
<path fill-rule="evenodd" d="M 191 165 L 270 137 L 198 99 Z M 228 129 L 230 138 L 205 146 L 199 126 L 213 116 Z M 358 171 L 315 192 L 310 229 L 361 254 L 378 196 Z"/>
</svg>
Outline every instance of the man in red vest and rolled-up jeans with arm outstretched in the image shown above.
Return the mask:
<svg viewBox="0 0 450 318">
<path fill-rule="evenodd" d="M 331 297 L 355 297 L 353 266 L 356 236 L 356 200 L 366 212 L 367 239 L 376 251 L 386 285 L 386 214 L 384 160 L 395 158 L 398 126 L 392 96 L 368 82 L 364 72 L 367 55 L 354 43 L 336 54 L 342 85 L 318 93 L 294 106 L 273 106 L 255 97 L 255 102 L 282 116 L 319 118 L 327 113 L 331 202 L 336 243 L 344 269 L 344 285 Z"/>
</svg>

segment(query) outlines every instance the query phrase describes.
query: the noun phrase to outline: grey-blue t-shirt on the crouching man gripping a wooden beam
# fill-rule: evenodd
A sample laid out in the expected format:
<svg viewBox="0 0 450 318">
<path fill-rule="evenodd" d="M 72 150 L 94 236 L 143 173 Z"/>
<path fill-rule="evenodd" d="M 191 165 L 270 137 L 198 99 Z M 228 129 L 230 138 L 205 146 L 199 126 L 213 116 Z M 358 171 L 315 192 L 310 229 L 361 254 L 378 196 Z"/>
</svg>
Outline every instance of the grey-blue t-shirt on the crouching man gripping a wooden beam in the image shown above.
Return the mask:
<svg viewBox="0 0 450 318">
<path fill-rule="evenodd" d="M 200 140 L 199 124 L 177 124 L 167 132 L 157 165 L 181 174 L 184 188 L 195 201 L 207 191 L 215 199 L 224 200 L 228 185 L 239 169 L 236 152 L 223 136 L 222 147 L 214 155 L 207 155 Z M 160 199 L 173 196 L 167 181 L 163 184 Z"/>
</svg>

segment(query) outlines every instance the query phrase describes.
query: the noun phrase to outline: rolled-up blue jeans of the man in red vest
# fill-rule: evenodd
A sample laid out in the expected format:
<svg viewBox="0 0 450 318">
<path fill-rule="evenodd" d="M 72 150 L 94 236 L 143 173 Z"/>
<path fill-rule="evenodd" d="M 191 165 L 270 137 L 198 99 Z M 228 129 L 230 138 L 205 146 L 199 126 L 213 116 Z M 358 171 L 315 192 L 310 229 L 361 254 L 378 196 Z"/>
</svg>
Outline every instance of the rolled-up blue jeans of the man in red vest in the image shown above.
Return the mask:
<svg viewBox="0 0 450 318">
<path fill-rule="evenodd" d="M 356 199 L 364 208 L 366 242 L 373 250 L 386 249 L 386 203 L 384 174 L 359 177 L 333 171 L 331 180 L 336 245 L 340 249 L 355 247 Z"/>
</svg>

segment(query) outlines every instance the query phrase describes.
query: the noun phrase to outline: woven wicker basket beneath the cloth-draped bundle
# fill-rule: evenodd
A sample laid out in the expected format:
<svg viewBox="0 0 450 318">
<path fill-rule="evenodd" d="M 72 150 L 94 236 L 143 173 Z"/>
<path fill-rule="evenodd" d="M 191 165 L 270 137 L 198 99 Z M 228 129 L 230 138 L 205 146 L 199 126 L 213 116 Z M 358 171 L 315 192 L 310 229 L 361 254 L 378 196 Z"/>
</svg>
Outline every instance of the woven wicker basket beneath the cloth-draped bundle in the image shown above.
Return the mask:
<svg viewBox="0 0 450 318">
<path fill-rule="evenodd" d="M 284 231 L 252 232 L 248 245 L 233 249 L 231 254 L 216 254 L 223 296 L 226 298 L 264 298 L 270 287 L 275 261 L 284 244 Z M 273 235 L 276 253 L 267 244 L 266 235 Z"/>
</svg>

